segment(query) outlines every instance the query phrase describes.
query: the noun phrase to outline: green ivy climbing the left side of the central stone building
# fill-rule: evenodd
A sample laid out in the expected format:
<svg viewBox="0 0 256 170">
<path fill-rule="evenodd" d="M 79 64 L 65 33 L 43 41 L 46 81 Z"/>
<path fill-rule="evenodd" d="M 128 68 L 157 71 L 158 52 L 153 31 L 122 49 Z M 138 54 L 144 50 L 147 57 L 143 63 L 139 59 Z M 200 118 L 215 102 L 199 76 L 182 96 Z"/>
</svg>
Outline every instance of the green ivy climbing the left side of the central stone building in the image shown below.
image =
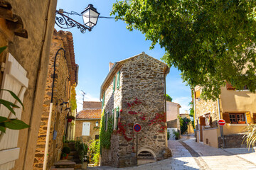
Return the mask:
<svg viewBox="0 0 256 170">
<path fill-rule="evenodd" d="M 110 116 L 110 118 L 107 120 L 107 130 L 105 130 L 105 115 L 104 115 L 105 111 L 103 110 L 102 112 L 102 119 L 100 120 L 100 148 L 102 149 L 110 149 L 110 145 L 111 145 L 111 135 L 113 132 L 113 123 L 114 123 L 114 119 L 112 117 L 112 115 Z"/>
</svg>

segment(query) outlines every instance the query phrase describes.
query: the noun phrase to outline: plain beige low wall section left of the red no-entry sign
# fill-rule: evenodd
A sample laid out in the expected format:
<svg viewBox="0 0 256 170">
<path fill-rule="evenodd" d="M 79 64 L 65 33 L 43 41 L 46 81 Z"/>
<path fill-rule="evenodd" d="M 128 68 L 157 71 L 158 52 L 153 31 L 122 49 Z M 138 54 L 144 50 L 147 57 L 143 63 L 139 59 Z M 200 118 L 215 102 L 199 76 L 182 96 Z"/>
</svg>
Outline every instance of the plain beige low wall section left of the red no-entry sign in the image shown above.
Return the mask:
<svg viewBox="0 0 256 170">
<path fill-rule="evenodd" d="M 206 144 L 208 139 L 208 145 L 211 147 L 218 147 L 218 129 L 203 130 L 203 144 Z"/>
</svg>

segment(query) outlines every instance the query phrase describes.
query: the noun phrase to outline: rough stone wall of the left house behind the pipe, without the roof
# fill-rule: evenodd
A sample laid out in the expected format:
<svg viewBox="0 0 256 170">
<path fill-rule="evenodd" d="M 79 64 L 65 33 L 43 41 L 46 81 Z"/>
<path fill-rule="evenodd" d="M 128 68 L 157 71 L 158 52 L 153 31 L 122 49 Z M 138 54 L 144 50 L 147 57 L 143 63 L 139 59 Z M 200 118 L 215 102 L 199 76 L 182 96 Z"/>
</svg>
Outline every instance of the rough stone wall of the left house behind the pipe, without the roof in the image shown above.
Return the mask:
<svg viewBox="0 0 256 170">
<path fill-rule="evenodd" d="M 49 69 L 48 69 L 48 77 L 46 82 L 46 91 L 43 102 L 43 115 L 41 118 L 40 129 L 38 132 L 38 140 L 36 147 L 36 154 L 34 159 L 33 169 L 42 169 L 43 168 L 43 157 L 44 151 L 46 147 L 46 132 L 48 125 L 48 116 L 50 109 L 50 98 L 52 92 L 52 84 L 53 84 L 53 63 L 55 53 L 63 47 L 63 42 L 61 40 L 53 40 L 50 48 L 50 61 L 49 61 Z M 63 51 L 60 51 L 56 57 L 55 64 L 55 84 L 53 91 L 53 114 L 51 118 L 50 125 L 50 140 L 49 140 L 49 149 L 48 149 L 48 164 L 47 167 L 53 165 L 54 162 L 57 162 L 60 159 L 61 149 L 63 147 L 63 135 L 65 132 L 65 116 L 67 115 L 67 111 L 60 111 L 56 103 L 60 104 L 63 101 L 68 101 L 68 93 L 70 93 L 70 89 L 68 87 L 68 66 L 65 57 L 63 56 Z M 66 91 L 66 93 L 65 93 Z M 59 100 L 60 98 L 63 99 Z M 57 137 L 53 140 L 53 131 L 57 132 Z"/>
</svg>

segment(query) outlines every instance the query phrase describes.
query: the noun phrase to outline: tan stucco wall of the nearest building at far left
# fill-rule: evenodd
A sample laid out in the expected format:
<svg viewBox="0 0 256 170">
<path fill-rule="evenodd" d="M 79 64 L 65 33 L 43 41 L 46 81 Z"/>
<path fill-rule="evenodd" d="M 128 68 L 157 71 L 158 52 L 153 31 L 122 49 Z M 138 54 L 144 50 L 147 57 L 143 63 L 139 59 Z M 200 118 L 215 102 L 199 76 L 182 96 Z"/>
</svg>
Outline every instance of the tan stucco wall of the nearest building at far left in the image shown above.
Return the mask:
<svg viewBox="0 0 256 170">
<path fill-rule="evenodd" d="M 21 17 L 24 28 L 28 31 L 28 39 L 14 36 L 13 41 L 6 40 L 1 34 L 0 45 L 8 45 L 6 52 L 16 58 L 28 72 L 28 89 L 24 95 L 23 120 L 31 128 L 20 130 L 18 147 L 19 159 L 16 160 L 14 169 L 32 169 L 36 150 L 36 138 L 41 121 L 43 109 L 43 94 L 46 86 L 48 70 L 48 54 L 50 41 L 53 35 L 55 8 L 57 1 L 21 1 L 9 0 L 14 14 Z M 48 5 L 50 5 L 49 11 Z M 49 14 L 48 17 L 47 13 Z M 46 20 L 48 18 L 48 20 Z M 5 23 L 5 22 L 4 22 Z M 45 40 L 43 40 L 45 36 Z M 1 56 L 1 62 L 6 55 Z"/>
</svg>

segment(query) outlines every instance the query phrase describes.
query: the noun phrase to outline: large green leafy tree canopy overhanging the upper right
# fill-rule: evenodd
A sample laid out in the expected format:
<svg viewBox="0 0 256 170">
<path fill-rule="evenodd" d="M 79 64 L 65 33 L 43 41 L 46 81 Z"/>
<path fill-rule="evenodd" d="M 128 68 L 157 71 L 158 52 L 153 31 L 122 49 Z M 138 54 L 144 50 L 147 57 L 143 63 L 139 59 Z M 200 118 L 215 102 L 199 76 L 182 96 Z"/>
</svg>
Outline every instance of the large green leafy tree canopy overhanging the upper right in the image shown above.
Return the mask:
<svg viewBox="0 0 256 170">
<path fill-rule="evenodd" d="M 162 60 L 181 70 L 183 81 L 218 98 L 226 81 L 255 91 L 256 1 L 123 0 L 112 8 L 127 23 L 164 47 Z"/>
</svg>

